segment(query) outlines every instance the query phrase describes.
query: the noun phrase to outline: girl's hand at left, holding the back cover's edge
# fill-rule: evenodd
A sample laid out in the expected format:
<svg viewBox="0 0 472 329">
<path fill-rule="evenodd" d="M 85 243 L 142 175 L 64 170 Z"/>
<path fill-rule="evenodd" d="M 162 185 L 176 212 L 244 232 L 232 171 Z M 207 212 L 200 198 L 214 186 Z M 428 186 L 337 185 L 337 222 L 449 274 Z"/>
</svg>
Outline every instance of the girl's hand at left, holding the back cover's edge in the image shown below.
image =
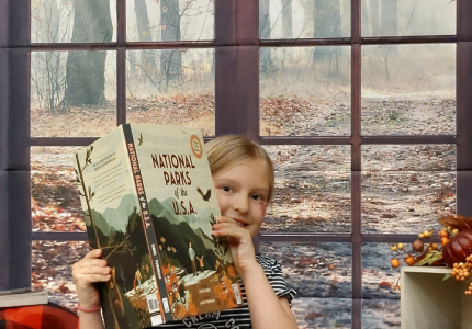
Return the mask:
<svg viewBox="0 0 472 329">
<path fill-rule="evenodd" d="M 102 251 L 93 249 L 72 265 L 72 277 L 77 296 L 82 308 L 93 309 L 100 306 L 100 295 L 95 282 L 106 282 L 111 279 L 106 260 L 100 259 Z"/>
</svg>

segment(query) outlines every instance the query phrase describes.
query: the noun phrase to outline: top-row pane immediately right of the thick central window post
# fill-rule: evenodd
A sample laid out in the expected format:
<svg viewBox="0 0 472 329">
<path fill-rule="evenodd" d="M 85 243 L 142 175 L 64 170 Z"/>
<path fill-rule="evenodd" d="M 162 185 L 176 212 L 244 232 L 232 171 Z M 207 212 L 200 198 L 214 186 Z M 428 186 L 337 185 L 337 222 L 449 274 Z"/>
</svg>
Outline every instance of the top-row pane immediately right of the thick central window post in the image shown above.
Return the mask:
<svg viewBox="0 0 472 329">
<path fill-rule="evenodd" d="M 260 0 L 262 39 L 350 36 L 349 0 Z"/>
</svg>

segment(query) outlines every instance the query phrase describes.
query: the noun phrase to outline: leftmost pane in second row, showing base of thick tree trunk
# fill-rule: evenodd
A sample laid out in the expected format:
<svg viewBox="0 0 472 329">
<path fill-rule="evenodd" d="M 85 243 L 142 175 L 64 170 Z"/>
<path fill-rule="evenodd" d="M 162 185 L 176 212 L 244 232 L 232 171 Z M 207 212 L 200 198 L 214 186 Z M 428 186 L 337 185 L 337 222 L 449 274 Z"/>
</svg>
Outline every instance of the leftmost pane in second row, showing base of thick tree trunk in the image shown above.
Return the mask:
<svg viewBox="0 0 472 329">
<path fill-rule="evenodd" d="M 98 137 L 116 125 L 114 52 L 31 55 L 32 137 Z"/>
</svg>

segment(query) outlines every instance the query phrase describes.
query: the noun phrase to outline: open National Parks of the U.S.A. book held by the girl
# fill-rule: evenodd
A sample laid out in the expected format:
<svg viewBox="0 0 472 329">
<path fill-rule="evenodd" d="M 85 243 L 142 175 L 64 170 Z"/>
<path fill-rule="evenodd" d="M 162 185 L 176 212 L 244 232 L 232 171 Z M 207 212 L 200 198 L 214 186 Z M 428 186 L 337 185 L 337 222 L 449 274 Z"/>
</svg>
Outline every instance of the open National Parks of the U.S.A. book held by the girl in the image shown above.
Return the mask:
<svg viewBox="0 0 472 329">
<path fill-rule="evenodd" d="M 75 155 L 106 329 L 145 328 L 239 306 L 200 129 L 125 124 Z"/>
</svg>

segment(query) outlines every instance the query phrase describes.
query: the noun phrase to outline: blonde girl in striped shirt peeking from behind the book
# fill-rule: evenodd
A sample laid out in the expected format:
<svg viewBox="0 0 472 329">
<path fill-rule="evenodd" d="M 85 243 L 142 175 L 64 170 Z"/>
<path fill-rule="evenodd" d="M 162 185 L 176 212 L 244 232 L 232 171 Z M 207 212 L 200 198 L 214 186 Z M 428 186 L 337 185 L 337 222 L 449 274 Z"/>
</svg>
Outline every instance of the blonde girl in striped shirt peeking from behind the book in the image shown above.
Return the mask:
<svg viewBox="0 0 472 329">
<path fill-rule="evenodd" d="M 296 329 L 290 308 L 295 292 L 286 287 L 281 264 L 256 254 L 252 245 L 273 193 L 272 161 L 260 145 L 235 135 L 214 138 L 206 144 L 206 150 L 222 212 L 212 235 L 227 237 L 246 303 L 212 317 L 193 317 L 155 328 Z M 72 266 L 81 329 L 103 328 L 94 283 L 106 282 L 111 275 L 100 257 L 100 249 L 91 250 Z"/>
</svg>

